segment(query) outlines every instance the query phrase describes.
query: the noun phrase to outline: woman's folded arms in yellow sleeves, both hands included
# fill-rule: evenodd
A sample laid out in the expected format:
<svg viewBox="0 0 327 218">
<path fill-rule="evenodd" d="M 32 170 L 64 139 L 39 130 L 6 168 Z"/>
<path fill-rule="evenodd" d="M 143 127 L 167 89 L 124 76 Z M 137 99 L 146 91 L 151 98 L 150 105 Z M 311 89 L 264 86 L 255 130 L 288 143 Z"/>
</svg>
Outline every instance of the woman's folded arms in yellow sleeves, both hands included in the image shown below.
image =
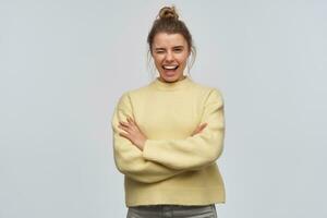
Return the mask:
<svg viewBox="0 0 327 218">
<path fill-rule="evenodd" d="M 223 101 L 215 88 L 206 99 L 202 124 L 184 140 L 148 140 L 132 117 L 130 97 L 125 93 L 111 120 L 113 155 L 118 170 L 133 180 L 153 183 L 185 171 L 201 170 L 222 153 Z"/>
</svg>

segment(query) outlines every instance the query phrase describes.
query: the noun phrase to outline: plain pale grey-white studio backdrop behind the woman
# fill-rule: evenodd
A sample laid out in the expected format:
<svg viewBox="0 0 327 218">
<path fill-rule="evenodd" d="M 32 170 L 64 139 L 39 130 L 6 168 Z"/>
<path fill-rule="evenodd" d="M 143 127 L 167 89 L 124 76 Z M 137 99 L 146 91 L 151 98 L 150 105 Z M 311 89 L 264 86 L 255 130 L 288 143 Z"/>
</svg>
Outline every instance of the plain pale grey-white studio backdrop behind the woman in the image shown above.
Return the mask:
<svg viewBox="0 0 327 218">
<path fill-rule="evenodd" d="M 174 3 L 226 104 L 220 218 L 325 218 L 327 1 L 0 0 L 0 217 L 125 217 L 110 119 Z"/>
</svg>

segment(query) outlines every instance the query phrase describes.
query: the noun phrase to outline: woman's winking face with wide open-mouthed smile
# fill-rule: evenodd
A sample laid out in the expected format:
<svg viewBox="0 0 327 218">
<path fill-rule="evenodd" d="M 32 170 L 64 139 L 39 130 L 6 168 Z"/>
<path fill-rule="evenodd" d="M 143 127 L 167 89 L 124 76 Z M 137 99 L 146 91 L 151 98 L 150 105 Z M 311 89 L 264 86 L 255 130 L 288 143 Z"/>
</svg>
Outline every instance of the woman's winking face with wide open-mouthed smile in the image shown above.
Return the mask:
<svg viewBox="0 0 327 218">
<path fill-rule="evenodd" d="M 162 82 L 184 78 L 183 72 L 190 56 L 187 41 L 181 34 L 158 33 L 154 37 L 152 55 Z"/>
</svg>

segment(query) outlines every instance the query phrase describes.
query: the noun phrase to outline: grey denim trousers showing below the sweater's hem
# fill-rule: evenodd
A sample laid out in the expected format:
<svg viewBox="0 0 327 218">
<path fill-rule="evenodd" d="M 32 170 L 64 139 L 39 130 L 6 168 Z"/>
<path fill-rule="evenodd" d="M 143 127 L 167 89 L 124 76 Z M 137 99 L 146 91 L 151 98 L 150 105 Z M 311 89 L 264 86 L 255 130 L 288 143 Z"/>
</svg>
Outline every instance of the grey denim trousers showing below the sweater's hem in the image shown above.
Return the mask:
<svg viewBox="0 0 327 218">
<path fill-rule="evenodd" d="M 210 205 L 142 205 L 129 207 L 126 218 L 217 218 Z"/>
</svg>

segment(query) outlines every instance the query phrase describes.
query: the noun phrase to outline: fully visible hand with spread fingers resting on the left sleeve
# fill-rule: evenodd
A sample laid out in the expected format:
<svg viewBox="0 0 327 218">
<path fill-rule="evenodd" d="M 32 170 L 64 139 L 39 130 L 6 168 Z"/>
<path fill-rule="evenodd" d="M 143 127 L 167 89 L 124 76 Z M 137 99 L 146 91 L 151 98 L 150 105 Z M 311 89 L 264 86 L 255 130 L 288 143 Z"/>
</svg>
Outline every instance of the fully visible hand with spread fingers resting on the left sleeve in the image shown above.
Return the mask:
<svg viewBox="0 0 327 218">
<path fill-rule="evenodd" d="M 145 141 L 147 138 L 142 133 L 136 122 L 134 122 L 134 120 L 131 117 L 129 117 L 128 122 L 120 121 L 119 123 L 120 124 L 118 126 L 126 132 L 120 132 L 119 135 L 130 140 L 133 143 L 133 145 L 138 147 L 138 149 L 143 150 Z"/>
</svg>

